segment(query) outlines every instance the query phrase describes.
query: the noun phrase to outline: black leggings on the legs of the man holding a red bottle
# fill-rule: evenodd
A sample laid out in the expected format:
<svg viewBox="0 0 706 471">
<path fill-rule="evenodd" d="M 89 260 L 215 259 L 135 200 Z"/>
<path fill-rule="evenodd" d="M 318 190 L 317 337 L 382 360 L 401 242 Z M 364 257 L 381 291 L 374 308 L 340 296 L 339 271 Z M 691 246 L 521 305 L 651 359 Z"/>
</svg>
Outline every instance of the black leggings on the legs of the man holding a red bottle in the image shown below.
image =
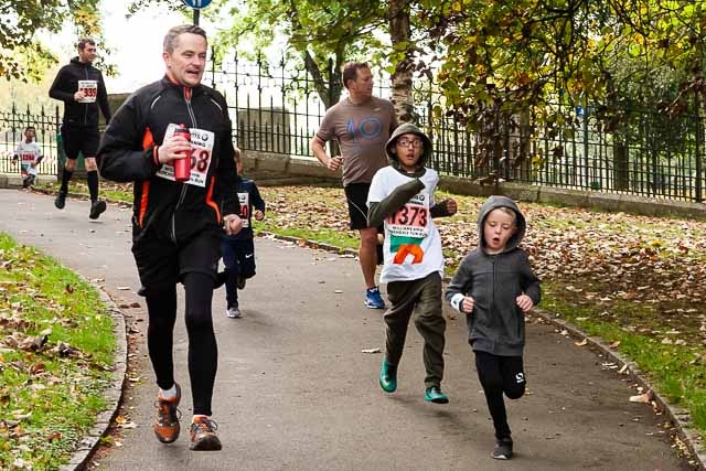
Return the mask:
<svg viewBox="0 0 706 471">
<path fill-rule="evenodd" d="M 186 297 L 186 332 L 189 334 L 189 377 L 193 396 L 194 415 L 211 415 L 213 384 L 218 365 L 218 349 L 213 332 L 211 301 L 213 278 L 201 272 L 190 272 L 183 278 Z M 174 385 L 174 322 L 176 321 L 176 286 L 148 287 L 146 292 L 149 312 L 147 346 L 162 389 Z"/>
</svg>

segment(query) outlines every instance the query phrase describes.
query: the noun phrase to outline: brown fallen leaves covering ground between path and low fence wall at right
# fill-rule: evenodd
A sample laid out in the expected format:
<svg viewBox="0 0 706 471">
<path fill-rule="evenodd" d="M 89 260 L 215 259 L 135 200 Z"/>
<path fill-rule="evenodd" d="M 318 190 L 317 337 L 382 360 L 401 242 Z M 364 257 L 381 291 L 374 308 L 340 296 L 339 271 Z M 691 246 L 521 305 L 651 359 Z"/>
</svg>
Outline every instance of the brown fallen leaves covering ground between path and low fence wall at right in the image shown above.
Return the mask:
<svg viewBox="0 0 706 471">
<path fill-rule="evenodd" d="M 266 186 L 260 192 L 268 224 L 325 227 L 355 238 L 341 189 Z M 446 196 L 438 193 L 437 200 Z M 484 201 L 453 197 L 457 215 L 435 220 L 447 276 L 478 245 L 477 216 Z M 603 321 L 627 331 L 665 344 L 704 346 L 706 223 L 523 202 L 520 207 L 527 220 L 522 246 L 545 291 L 592 307 Z"/>
</svg>

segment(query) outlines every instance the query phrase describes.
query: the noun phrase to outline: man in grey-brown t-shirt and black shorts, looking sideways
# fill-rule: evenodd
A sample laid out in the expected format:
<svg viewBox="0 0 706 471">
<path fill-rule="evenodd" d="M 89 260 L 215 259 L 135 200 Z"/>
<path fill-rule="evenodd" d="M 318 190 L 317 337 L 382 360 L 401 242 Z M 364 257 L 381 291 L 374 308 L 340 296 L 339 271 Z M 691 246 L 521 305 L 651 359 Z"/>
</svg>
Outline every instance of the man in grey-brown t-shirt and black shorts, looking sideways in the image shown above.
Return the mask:
<svg viewBox="0 0 706 471">
<path fill-rule="evenodd" d="M 349 96 L 329 108 L 311 141 L 311 150 L 332 172 L 343 165 L 351 228 L 361 234 L 359 258 L 367 288 L 364 303 L 371 309 L 385 309 L 375 283 L 377 227 L 367 226 L 366 203 L 373 175 L 388 164 L 385 143 L 397 127 L 397 118 L 389 100 L 373 96 L 373 74 L 366 63 L 345 64 L 343 85 Z M 339 142 L 341 156 L 327 153 L 325 143 L 330 140 Z"/>
</svg>

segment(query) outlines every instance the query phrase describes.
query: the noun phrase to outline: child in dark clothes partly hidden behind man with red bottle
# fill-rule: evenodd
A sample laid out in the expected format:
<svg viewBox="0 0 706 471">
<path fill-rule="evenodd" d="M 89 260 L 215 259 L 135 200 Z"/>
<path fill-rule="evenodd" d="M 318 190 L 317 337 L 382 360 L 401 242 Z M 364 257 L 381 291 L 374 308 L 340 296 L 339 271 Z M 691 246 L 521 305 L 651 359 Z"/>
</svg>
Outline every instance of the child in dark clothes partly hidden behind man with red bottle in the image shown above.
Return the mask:
<svg viewBox="0 0 706 471">
<path fill-rule="evenodd" d="M 255 276 L 255 244 L 252 216 L 257 221 L 265 218 L 265 201 L 253 180 L 244 179 L 240 150 L 235 148 L 235 164 L 238 172 L 235 188 L 228 189 L 237 194 L 240 202 L 243 229 L 236 235 L 224 235 L 221 240 L 221 255 L 225 272 L 220 274 L 220 281 L 225 279 L 226 315 L 237 319 L 242 315 L 238 304 L 238 289 L 245 288 L 245 280 Z M 253 212 L 255 208 L 255 212 Z"/>
</svg>

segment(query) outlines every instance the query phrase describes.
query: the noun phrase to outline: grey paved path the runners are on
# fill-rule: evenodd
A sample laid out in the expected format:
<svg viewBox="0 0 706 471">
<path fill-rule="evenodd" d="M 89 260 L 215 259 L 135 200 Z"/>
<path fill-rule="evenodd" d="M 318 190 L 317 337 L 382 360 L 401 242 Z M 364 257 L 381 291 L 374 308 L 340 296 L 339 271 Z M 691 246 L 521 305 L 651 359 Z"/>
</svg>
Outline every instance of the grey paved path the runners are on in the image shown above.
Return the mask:
<svg viewBox="0 0 706 471">
<path fill-rule="evenodd" d="M 0 190 L 0 231 L 41 248 L 89 279 L 105 279 L 117 302 L 142 302 L 130 247 L 130 216 L 110 206 L 88 220 L 88 202 Z M 555 329 L 528 325 L 528 394 L 509 404 L 516 459 L 490 459 L 492 424 L 466 342 L 462 318 L 447 329 L 446 381 L 451 403 L 422 400 L 421 341 L 411 327 L 399 389 L 377 386 L 384 347 L 381 311 L 362 306 L 357 263 L 276 240 L 256 240 L 258 275 L 242 293 L 244 318 L 225 318 L 214 296 L 220 365 L 214 419 L 221 452 L 192 452 L 188 433 L 159 443 L 150 427 L 156 386 L 140 338 L 142 381 L 126 399 L 131 419 L 106 470 L 680 470 L 650 407 L 629 403 L 631 379 Z M 119 287 L 130 287 L 121 290 Z M 181 290 L 180 290 L 181 291 Z M 339 292 L 340 291 L 340 292 Z M 180 306 L 183 306 L 180 300 Z M 145 330 L 140 309 L 128 323 Z M 451 314 L 449 311 L 448 314 Z M 178 321 L 176 378 L 191 414 L 183 317 Z M 185 428 L 185 426 L 184 426 Z"/>
</svg>

